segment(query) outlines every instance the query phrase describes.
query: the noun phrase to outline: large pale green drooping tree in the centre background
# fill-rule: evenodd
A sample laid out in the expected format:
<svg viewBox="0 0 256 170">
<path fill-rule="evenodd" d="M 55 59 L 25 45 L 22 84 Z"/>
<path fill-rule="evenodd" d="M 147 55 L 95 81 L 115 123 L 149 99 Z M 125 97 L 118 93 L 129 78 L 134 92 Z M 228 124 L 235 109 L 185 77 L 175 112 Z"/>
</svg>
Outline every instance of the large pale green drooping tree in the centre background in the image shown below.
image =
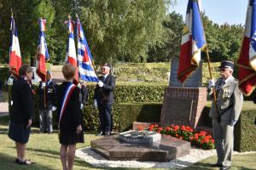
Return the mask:
<svg viewBox="0 0 256 170">
<path fill-rule="evenodd" d="M 80 20 L 97 63 L 145 61 L 163 33 L 169 0 L 84 0 Z"/>
</svg>

